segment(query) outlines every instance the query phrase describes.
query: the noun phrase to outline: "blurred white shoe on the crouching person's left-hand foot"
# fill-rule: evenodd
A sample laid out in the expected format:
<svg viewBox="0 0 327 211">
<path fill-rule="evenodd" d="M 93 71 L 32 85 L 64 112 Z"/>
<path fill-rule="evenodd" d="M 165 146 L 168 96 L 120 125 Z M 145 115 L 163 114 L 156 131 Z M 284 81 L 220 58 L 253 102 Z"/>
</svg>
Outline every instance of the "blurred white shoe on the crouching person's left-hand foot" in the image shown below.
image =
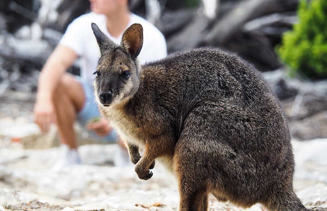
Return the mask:
<svg viewBox="0 0 327 211">
<path fill-rule="evenodd" d="M 77 149 L 71 149 L 67 144 L 61 144 L 59 158 L 51 170 L 60 171 L 66 166 L 81 164 Z"/>
</svg>

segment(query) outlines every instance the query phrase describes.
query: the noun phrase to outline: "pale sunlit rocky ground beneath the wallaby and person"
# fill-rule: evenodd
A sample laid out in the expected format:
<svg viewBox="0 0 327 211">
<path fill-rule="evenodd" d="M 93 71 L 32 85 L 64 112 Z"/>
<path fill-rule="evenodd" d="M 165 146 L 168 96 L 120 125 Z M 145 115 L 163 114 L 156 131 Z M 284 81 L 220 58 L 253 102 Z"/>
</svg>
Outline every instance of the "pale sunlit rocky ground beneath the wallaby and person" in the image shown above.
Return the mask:
<svg viewBox="0 0 327 211">
<path fill-rule="evenodd" d="M 59 148 L 23 149 L 1 142 L 0 210 L 176 210 L 174 178 L 159 165 L 148 181 L 132 166 L 112 166 L 116 145 L 86 144 L 83 165 L 52 171 Z M 327 139 L 293 141 L 296 158 L 294 188 L 307 208 L 327 210 Z M 210 197 L 210 210 L 243 210 Z M 324 208 L 324 209 L 323 209 Z M 66 208 L 66 210 L 70 210 Z M 66 211 L 65 210 L 65 211 Z M 265 210 L 254 205 L 249 210 Z"/>
</svg>

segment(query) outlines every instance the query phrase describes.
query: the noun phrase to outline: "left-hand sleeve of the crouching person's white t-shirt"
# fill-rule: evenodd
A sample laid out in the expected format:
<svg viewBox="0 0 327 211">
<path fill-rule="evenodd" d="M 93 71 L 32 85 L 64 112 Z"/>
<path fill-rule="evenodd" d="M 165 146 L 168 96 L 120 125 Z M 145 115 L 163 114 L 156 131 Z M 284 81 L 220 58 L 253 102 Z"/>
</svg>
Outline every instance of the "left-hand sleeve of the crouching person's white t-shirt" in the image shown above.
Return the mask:
<svg viewBox="0 0 327 211">
<path fill-rule="evenodd" d="M 69 47 L 79 56 L 83 52 L 83 25 L 81 23 L 82 21 L 79 18 L 70 23 L 59 41 L 59 44 Z"/>
</svg>

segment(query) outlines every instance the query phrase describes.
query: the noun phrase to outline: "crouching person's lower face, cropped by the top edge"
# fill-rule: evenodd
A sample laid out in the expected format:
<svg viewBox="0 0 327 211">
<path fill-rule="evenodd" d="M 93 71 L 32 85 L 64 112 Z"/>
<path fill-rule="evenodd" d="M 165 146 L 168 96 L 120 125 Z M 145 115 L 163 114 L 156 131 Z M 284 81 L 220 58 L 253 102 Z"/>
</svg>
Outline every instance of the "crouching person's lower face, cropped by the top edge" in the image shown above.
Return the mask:
<svg viewBox="0 0 327 211">
<path fill-rule="evenodd" d="M 128 9 L 128 0 L 89 0 L 91 10 L 97 14 L 112 14 L 116 11 Z"/>
</svg>

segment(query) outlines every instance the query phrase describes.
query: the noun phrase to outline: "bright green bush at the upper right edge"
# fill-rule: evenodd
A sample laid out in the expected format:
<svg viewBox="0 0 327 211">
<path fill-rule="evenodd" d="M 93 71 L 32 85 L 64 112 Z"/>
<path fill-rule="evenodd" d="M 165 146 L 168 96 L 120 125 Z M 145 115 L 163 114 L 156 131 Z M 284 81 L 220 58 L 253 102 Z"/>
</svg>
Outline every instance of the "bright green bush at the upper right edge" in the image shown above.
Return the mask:
<svg viewBox="0 0 327 211">
<path fill-rule="evenodd" d="M 282 60 L 297 73 L 312 78 L 327 77 L 327 0 L 301 0 L 299 22 L 283 35 L 277 47 Z"/>
</svg>

